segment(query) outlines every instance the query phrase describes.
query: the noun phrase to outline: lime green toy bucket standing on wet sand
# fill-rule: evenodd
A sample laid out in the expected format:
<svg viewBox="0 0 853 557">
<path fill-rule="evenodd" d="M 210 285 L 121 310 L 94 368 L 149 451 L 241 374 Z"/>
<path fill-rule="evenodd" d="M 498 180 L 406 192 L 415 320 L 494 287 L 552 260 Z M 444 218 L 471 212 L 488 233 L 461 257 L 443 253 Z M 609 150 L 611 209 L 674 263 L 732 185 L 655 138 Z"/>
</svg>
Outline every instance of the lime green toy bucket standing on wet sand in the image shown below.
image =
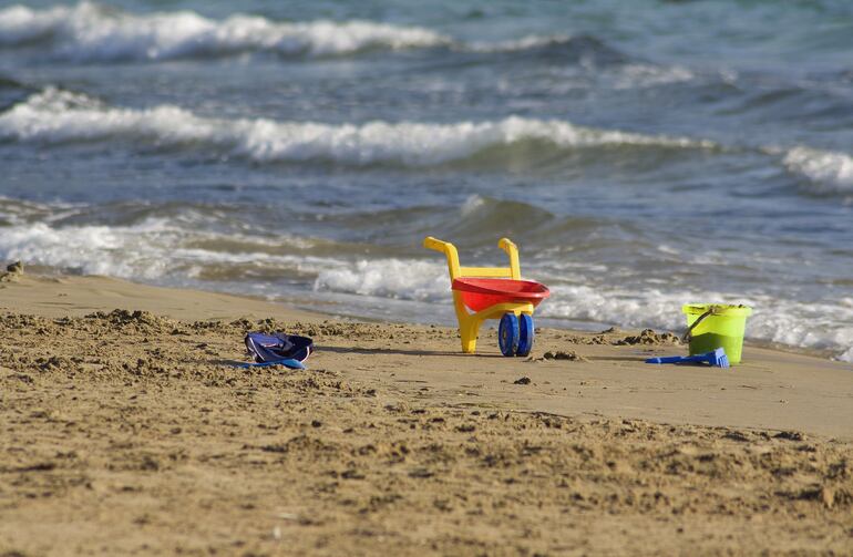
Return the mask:
<svg viewBox="0 0 853 557">
<path fill-rule="evenodd" d="M 723 303 L 688 303 L 681 311 L 687 316 L 690 355 L 723 348 L 729 363 L 740 363 L 743 332 L 752 308 Z"/>
</svg>

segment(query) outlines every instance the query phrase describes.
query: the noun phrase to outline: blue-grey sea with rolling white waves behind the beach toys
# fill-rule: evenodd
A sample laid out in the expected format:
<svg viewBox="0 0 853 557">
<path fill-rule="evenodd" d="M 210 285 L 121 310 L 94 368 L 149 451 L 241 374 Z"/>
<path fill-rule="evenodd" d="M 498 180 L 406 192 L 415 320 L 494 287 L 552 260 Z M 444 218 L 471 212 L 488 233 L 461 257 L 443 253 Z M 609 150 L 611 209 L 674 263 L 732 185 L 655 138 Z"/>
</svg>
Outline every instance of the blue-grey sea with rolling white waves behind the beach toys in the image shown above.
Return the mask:
<svg viewBox="0 0 853 557">
<path fill-rule="evenodd" d="M 0 1 L 0 260 L 450 324 L 425 236 L 853 361 L 853 2 Z"/>
</svg>

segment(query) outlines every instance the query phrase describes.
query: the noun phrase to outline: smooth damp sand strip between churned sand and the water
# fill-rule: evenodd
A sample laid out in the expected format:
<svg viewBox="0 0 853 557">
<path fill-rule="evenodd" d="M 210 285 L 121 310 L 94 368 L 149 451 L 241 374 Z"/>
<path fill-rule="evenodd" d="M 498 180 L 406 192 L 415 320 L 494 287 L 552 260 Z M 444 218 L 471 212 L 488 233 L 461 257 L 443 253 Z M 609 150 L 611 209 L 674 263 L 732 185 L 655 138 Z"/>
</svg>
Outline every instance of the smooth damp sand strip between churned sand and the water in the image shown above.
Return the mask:
<svg viewBox="0 0 853 557">
<path fill-rule="evenodd" d="M 569 399 L 565 404 L 571 412 L 567 415 L 603 415 L 609 417 L 641 417 L 660 423 L 696 424 L 707 426 L 739 426 L 751 429 L 773 429 L 778 431 L 792 429 L 802 424 L 802 429 L 812 434 L 844 436 L 853 440 L 853 430 L 845 427 L 853 423 L 853 404 L 837 404 L 833 400 L 833 389 L 853 400 L 853 364 L 823 359 L 806 351 L 789 351 L 778 348 L 765 348 L 757 343 L 747 343 L 744 362 L 730 371 L 715 370 L 701 367 L 649 365 L 643 361 L 649 355 L 685 353 L 685 347 L 669 342 L 658 342 L 645 339 L 635 343 L 624 342 L 636 336 L 637 331 L 614 329 L 614 332 L 600 334 L 589 331 L 568 329 L 542 328 L 537 332 L 537 342 L 531 358 L 526 360 L 506 359 L 500 357 L 496 347 L 495 323 L 486 323 L 477 347 L 477 354 L 462 354 L 459 350 L 458 333 L 454 328 L 429 324 L 412 324 L 401 322 L 358 320 L 357 318 L 335 317 L 315 313 L 288 307 L 280 302 L 266 301 L 258 298 L 241 297 L 220 292 L 209 292 L 193 289 L 166 288 L 141 285 L 111 277 L 34 277 L 19 276 L 14 282 L 0 285 L 0 312 L 29 314 L 34 313 L 52 319 L 66 317 L 83 317 L 94 312 L 110 312 L 114 309 L 142 310 L 155 317 L 167 317 L 184 322 L 192 321 L 259 321 L 273 319 L 280 329 L 287 329 L 288 323 L 301 327 L 305 324 L 339 323 L 354 327 L 350 339 L 336 338 L 335 349 L 339 351 L 336 363 L 349 358 L 366 354 L 360 345 L 361 338 L 369 339 L 368 348 L 376 354 L 388 358 L 387 365 L 400 367 L 394 375 L 407 375 L 412 384 L 429 384 L 438 380 L 439 389 L 452 388 L 461 390 L 462 396 L 480 398 L 464 389 L 464 381 L 454 378 L 458 372 L 475 374 L 479 380 L 490 383 L 494 381 L 481 375 L 505 375 L 514 373 L 530 375 L 535 381 L 543 381 L 536 395 L 524 393 L 515 400 L 515 391 L 501 385 L 491 385 L 490 394 L 494 400 L 511 405 L 527 406 L 533 412 L 561 413 L 566 401 L 561 398 L 558 389 L 545 385 L 561 385 L 568 390 L 567 377 L 573 377 L 582 384 L 584 378 L 596 378 L 602 381 L 600 389 L 616 390 L 619 394 L 602 393 L 582 394 Z M 359 332 L 360 331 L 360 332 Z M 371 331 L 366 333 L 364 331 Z M 383 338 L 388 336 L 388 338 Z M 438 339 L 444 339 L 439 341 Z M 598 338 L 598 339 L 596 339 Z M 398 340 L 394 340 L 398 339 Z M 603 339 L 603 340 L 602 340 Z M 241 338 L 233 339 L 235 348 L 241 349 Z M 341 342 L 342 341 L 342 342 Z M 616 345 L 623 342 L 627 345 Z M 420 345 L 419 349 L 414 349 Z M 347 350 L 354 350 L 347 354 Z M 322 344 L 318 353 L 322 354 Z M 577 354 L 578 361 L 544 360 L 543 354 L 566 352 Z M 376 355 L 373 354 L 373 355 Z M 428 358 L 428 357 L 435 358 Z M 357 367 L 347 373 L 353 377 L 366 375 L 368 381 L 383 380 L 382 374 L 376 374 L 370 359 L 363 362 L 367 373 Z M 602 380 L 602 378 L 607 378 Z M 740 379 L 738 379 L 740 378 Z M 518 378 L 512 378 L 513 381 Z M 507 381 L 504 377 L 499 381 Z M 739 383 L 754 382 L 756 384 Z M 825 383 L 824 390 L 809 392 L 798 396 L 795 411 L 790 409 L 784 391 L 798 388 L 814 390 L 812 382 Z M 703 382 L 698 389 L 696 382 Z M 609 384 L 609 386 L 607 386 Z M 759 385 L 759 386 L 756 386 Z M 576 385 L 573 385 L 573 388 Z M 405 392 L 417 395 L 417 392 Z M 740 389 L 756 391 L 760 395 L 746 396 L 741 402 L 759 404 L 747 410 L 727 408 L 726 400 L 721 403 L 710 403 L 703 396 L 716 398 L 712 389 Z M 781 394 L 773 401 L 764 400 L 764 391 L 778 391 Z M 671 391 L 671 392 L 670 392 Z M 630 396 L 630 393 L 638 396 Z M 667 394 L 665 394 L 667 393 Z M 820 411 L 810 410 L 818 396 Z M 590 400 L 592 399 L 592 400 Z M 466 399 L 467 400 L 467 399 Z M 690 402 L 686 402 L 690 401 Z M 446 402 L 446 401 L 443 401 Z M 471 402 L 471 401 L 469 401 Z M 692 406 L 692 405 L 696 406 Z M 789 406 L 787 411 L 780 408 Z M 837 409 L 836 409 L 837 406 Z M 625 409 L 624 411 L 621 409 Z M 633 409 L 633 414 L 628 409 Z M 840 411 L 830 415 L 828 409 Z M 767 416 L 762 416 L 762 412 Z M 793 417 L 791 416 L 793 415 Z M 847 415 L 849 414 L 849 415 Z M 769 417 L 768 417 L 769 416 Z M 821 416 L 815 419 L 815 416 Z M 802 421 L 800 421 L 802 419 Z"/>
</svg>

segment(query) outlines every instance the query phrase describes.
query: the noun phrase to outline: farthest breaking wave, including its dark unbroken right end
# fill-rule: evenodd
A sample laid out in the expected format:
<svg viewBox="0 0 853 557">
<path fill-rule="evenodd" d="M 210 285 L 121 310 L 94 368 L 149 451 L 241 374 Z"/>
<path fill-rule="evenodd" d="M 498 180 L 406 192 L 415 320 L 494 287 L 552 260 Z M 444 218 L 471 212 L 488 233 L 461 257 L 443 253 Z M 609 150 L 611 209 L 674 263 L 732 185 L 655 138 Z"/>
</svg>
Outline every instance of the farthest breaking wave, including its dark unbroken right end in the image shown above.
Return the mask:
<svg viewBox="0 0 853 557">
<path fill-rule="evenodd" d="M 215 58 L 246 52 L 336 56 L 436 48 L 604 64 L 630 58 L 588 34 L 464 42 L 422 27 L 368 20 L 282 22 L 241 13 L 213 20 L 188 10 L 134 14 L 89 1 L 42 10 L 20 4 L 0 9 L 0 48 L 33 45 L 50 49 L 55 59 L 76 62 Z"/>
</svg>

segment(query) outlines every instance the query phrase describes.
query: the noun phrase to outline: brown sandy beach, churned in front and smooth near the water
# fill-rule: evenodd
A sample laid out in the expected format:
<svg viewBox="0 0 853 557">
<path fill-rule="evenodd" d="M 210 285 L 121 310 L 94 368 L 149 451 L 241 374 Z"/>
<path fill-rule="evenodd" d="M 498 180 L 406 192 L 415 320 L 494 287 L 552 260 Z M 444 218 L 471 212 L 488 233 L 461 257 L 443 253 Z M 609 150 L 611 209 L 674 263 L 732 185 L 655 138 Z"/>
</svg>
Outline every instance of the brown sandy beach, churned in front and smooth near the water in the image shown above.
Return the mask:
<svg viewBox="0 0 853 557">
<path fill-rule="evenodd" d="M 228 365 L 248 330 L 312 336 L 310 369 Z M 853 554 L 853 367 L 654 367 L 685 349 L 637 333 L 464 355 L 441 327 L 12 277 L 0 555 Z"/>
</svg>

